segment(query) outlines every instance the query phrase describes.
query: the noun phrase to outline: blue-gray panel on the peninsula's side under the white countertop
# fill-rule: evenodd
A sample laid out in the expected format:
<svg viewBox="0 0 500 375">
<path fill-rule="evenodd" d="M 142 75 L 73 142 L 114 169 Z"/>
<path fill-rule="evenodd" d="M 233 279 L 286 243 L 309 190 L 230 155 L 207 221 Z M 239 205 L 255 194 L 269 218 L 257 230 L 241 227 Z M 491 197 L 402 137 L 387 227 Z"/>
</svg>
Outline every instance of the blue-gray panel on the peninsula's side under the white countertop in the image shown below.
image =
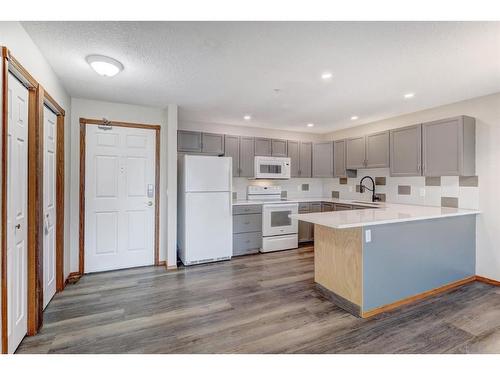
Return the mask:
<svg viewBox="0 0 500 375">
<path fill-rule="evenodd" d="M 476 216 L 365 227 L 363 245 L 368 311 L 475 275 Z"/>
</svg>

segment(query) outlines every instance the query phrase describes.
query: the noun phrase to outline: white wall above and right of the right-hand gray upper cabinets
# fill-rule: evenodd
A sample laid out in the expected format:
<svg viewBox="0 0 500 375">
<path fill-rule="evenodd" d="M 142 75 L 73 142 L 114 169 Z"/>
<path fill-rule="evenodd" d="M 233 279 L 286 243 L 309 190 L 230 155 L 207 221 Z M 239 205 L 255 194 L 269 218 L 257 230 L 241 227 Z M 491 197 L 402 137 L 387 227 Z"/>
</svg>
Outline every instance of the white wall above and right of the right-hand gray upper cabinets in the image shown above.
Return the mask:
<svg viewBox="0 0 500 375">
<path fill-rule="evenodd" d="M 481 210 L 476 228 L 476 273 L 500 280 L 500 93 L 340 130 L 327 134 L 326 138 L 342 139 L 457 115 L 476 118 L 476 174 Z"/>
</svg>

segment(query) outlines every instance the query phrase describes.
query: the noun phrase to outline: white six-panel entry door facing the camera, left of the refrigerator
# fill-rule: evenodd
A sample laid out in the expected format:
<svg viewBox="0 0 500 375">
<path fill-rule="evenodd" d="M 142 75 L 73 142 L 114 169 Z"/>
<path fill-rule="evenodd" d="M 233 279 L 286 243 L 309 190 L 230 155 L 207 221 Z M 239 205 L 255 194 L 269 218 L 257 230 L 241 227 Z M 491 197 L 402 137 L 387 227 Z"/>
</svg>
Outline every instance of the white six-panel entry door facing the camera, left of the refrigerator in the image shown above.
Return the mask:
<svg viewBox="0 0 500 375">
<path fill-rule="evenodd" d="M 155 131 L 86 128 L 85 272 L 152 265 Z"/>
</svg>

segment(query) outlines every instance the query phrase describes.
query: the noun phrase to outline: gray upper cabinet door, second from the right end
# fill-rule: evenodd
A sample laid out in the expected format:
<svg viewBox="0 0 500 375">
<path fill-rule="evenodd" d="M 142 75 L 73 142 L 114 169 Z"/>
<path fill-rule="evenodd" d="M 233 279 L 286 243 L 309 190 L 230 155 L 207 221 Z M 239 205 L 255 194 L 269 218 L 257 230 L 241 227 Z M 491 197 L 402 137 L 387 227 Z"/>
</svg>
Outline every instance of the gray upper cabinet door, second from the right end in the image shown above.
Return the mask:
<svg viewBox="0 0 500 375">
<path fill-rule="evenodd" d="M 422 174 L 422 125 L 393 129 L 390 133 L 391 176 Z"/>
</svg>

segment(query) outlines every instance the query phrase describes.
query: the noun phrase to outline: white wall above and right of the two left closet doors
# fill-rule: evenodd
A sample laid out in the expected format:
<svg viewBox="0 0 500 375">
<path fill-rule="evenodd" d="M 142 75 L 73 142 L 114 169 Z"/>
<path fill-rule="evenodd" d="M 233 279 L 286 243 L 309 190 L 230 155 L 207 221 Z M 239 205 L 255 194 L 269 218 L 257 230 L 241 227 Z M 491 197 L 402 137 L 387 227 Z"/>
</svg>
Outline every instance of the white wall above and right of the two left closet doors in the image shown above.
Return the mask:
<svg viewBox="0 0 500 375">
<path fill-rule="evenodd" d="M 24 31 L 19 22 L 0 22 L 0 46 L 7 47 L 12 55 L 28 70 L 28 72 L 45 88 L 45 90 L 59 103 L 66 111 L 66 128 L 69 127 L 69 117 L 71 115 L 71 101 L 66 90 L 59 82 L 48 62 L 43 57 L 38 47 L 33 43 L 28 34 Z M 0 78 L 0 87 L 1 78 Z M 2 91 L 0 90 L 0 96 Z M 0 97 L 1 101 L 1 97 Z M 0 118 L 1 118 L 0 108 Z M 69 131 L 65 133 L 65 160 L 69 160 Z M 65 166 L 65 222 L 69 218 L 69 163 Z M 67 276 L 70 272 L 69 267 L 69 225 L 65 228 L 65 254 L 64 254 L 64 274 Z M 1 309 L 0 309 L 1 311 Z M 0 316 L 1 320 L 1 316 Z M 0 333 L 1 335 L 1 333 Z M 1 340 L 1 336 L 0 336 Z"/>
</svg>

